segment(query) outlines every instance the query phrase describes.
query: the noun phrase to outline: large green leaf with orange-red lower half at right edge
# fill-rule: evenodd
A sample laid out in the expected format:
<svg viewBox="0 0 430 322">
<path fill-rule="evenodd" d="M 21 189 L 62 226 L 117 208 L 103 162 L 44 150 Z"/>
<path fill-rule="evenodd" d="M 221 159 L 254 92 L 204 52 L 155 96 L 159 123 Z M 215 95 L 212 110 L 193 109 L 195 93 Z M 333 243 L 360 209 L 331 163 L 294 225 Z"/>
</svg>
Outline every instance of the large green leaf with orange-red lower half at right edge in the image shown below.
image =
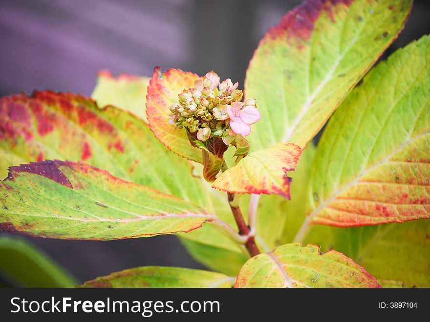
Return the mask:
<svg viewBox="0 0 430 322">
<path fill-rule="evenodd" d="M 307 221 L 430 217 L 430 37 L 369 72 L 330 120 L 311 170 Z"/>
</svg>

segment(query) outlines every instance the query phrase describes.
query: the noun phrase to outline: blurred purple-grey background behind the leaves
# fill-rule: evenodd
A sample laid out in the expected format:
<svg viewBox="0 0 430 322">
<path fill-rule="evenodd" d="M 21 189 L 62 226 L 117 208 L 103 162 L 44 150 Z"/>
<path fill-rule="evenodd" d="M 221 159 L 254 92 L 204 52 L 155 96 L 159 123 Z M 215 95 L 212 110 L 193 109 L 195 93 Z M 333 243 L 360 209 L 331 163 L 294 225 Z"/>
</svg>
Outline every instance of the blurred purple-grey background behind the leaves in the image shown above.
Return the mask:
<svg viewBox="0 0 430 322">
<path fill-rule="evenodd" d="M 100 69 L 151 76 L 153 67 L 215 70 L 243 88 L 258 41 L 300 0 L 1 0 L 0 95 L 33 89 L 89 96 Z M 430 1 L 382 59 L 430 33 Z M 121 241 L 26 238 L 78 281 L 144 265 L 203 268 L 174 236 Z M 0 253 L 0 260 L 8 260 Z M 7 285 L 3 280 L 0 284 Z"/>
</svg>

